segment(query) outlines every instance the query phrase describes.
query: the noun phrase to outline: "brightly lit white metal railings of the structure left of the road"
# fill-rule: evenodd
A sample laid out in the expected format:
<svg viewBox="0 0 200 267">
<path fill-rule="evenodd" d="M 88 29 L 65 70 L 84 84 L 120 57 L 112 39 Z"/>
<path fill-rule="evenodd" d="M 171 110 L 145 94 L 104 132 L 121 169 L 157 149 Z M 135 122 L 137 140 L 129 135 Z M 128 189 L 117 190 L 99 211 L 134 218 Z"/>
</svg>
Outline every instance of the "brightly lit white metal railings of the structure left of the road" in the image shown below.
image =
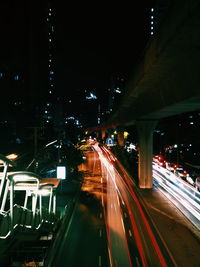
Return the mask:
<svg viewBox="0 0 200 267">
<path fill-rule="evenodd" d="M 8 172 L 8 166 L 15 164 L 2 155 L 0 160 L 4 167 L 0 175 L 0 239 L 6 239 L 17 227 L 23 231 L 53 225 L 56 218 L 54 184 L 40 184 L 42 178 L 33 172 Z"/>
</svg>

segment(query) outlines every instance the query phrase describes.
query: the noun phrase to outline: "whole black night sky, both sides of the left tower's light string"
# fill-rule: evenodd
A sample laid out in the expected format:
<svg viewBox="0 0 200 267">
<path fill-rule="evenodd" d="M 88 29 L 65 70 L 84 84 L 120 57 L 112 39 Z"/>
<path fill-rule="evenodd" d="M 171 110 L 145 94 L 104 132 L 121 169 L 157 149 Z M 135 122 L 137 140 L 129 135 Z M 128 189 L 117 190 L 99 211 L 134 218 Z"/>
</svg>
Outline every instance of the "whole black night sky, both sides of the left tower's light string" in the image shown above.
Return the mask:
<svg viewBox="0 0 200 267">
<path fill-rule="evenodd" d="M 153 1 L 152 1 L 153 2 Z M 54 3 L 54 54 L 57 94 L 70 97 L 85 89 L 97 89 L 99 94 L 110 87 L 111 76 L 129 73 L 143 51 L 149 33 L 150 1 L 131 2 L 73 2 Z M 0 4 L 1 43 L 0 68 L 24 75 L 23 90 L 20 87 L 9 92 L 33 95 L 30 89 L 30 16 L 40 31 L 34 33 L 41 46 L 39 60 L 47 60 L 48 41 L 45 39 L 45 1 L 13 2 Z M 33 40 L 34 41 L 34 40 Z M 34 46 L 34 44 L 33 44 Z M 34 64 L 37 64 L 35 61 Z M 39 66 L 34 66 L 43 78 Z M 45 76 L 46 75 L 46 76 Z M 38 85 L 38 92 L 47 86 Z M 18 91 L 19 90 L 19 91 Z M 28 92 L 32 90 L 33 92 Z"/>
</svg>

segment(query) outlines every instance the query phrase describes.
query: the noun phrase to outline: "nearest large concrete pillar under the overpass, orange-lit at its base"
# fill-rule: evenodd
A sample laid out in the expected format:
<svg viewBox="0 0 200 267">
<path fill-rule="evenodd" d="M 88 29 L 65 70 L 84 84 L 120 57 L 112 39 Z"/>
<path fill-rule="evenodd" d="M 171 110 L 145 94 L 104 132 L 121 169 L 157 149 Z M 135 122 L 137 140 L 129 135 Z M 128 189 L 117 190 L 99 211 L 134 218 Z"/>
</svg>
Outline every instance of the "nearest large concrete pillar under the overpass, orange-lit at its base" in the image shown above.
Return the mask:
<svg viewBox="0 0 200 267">
<path fill-rule="evenodd" d="M 140 188 L 152 188 L 153 130 L 156 120 L 137 121 L 139 137 L 138 178 Z"/>
</svg>

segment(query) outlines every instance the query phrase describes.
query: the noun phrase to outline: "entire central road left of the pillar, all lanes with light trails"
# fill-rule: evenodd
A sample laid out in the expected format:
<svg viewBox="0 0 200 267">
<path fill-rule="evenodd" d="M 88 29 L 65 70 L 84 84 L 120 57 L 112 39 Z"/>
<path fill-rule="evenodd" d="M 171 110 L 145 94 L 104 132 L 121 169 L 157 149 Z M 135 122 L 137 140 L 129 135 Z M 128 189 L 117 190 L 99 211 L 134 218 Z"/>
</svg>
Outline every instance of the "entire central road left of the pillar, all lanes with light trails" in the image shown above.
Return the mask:
<svg viewBox="0 0 200 267">
<path fill-rule="evenodd" d="M 97 144 L 85 155 L 79 198 L 47 266 L 177 266 L 116 158 Z"/>
</svg>

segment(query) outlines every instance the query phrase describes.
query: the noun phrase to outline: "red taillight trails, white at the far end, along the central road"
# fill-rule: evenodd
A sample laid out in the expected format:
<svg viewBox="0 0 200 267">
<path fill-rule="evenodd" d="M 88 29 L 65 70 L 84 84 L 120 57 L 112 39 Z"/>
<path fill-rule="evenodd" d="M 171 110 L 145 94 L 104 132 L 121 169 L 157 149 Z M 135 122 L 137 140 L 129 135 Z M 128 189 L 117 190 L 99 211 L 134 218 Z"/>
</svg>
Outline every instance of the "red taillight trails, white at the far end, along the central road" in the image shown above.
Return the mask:
<svg viewBox="0 0 200 267">
<path fill-rule="evenodd" d="M 114 185 L 115 188 L 115 194 L 119 196 L 121 202 L 128 210 L 129 220 L 132 225 L 132 230 L 140 254 L 142 266 L 148 266 L 148 261 L 151 261 L 153 259 L 153 261 L 157 262 L 156 266 L 159 263 L 160 266 L 167 267 L 168 265 L 166 263 L 165 257 L 163 256 L 163 253 L 153 234 L 153 231 L 144 214 L 141 204 L 135 192 L 133 191 L 130 178 L 126 173 L 124 173 L 124 175 L 119 174 L 117 169 L 114 167 L 116 160 L 114 159 L 114 157 L 110 156 L 111 152 L 109 150 L 105 148 L 102 148 L 101 150 L 98 146 L 95 146 L 94 148 L 99 155 L 99 159 L 102 163 L 102 169 L 104 169 L 107 172 L 106 174 L 107 183 L 110 183 L 112 181 L 112 184 Z M 135 208 L 133 208 L 133 206 L 137 209 L 137 215 L 134 214 Z M 140 223 L 138 222 L 137 216 L 140 216 Z M 141 224 L 141 222 L 144 228 L 141 225 L 139 225 Z M 129 233 L 128 230 L 127 232 Z M 151 245 L 149 242 L 151 243 Z M 146 243 L 148 243 L 148 246 Z M 152 248 L 150 246 L 152 246 Z M 177 266 L 175 260 L 173 259 L 171 253 L 169 252 L 169 249 L 166 247 L 166 244 L 163 244 L 163 246 L 165 247 L 168 253 L 168 257 L 171 263 L 173 264 L 172 266 Z M 151 253 L 149 252 L 149 250 L 151 251 Z"/>
</svg>

